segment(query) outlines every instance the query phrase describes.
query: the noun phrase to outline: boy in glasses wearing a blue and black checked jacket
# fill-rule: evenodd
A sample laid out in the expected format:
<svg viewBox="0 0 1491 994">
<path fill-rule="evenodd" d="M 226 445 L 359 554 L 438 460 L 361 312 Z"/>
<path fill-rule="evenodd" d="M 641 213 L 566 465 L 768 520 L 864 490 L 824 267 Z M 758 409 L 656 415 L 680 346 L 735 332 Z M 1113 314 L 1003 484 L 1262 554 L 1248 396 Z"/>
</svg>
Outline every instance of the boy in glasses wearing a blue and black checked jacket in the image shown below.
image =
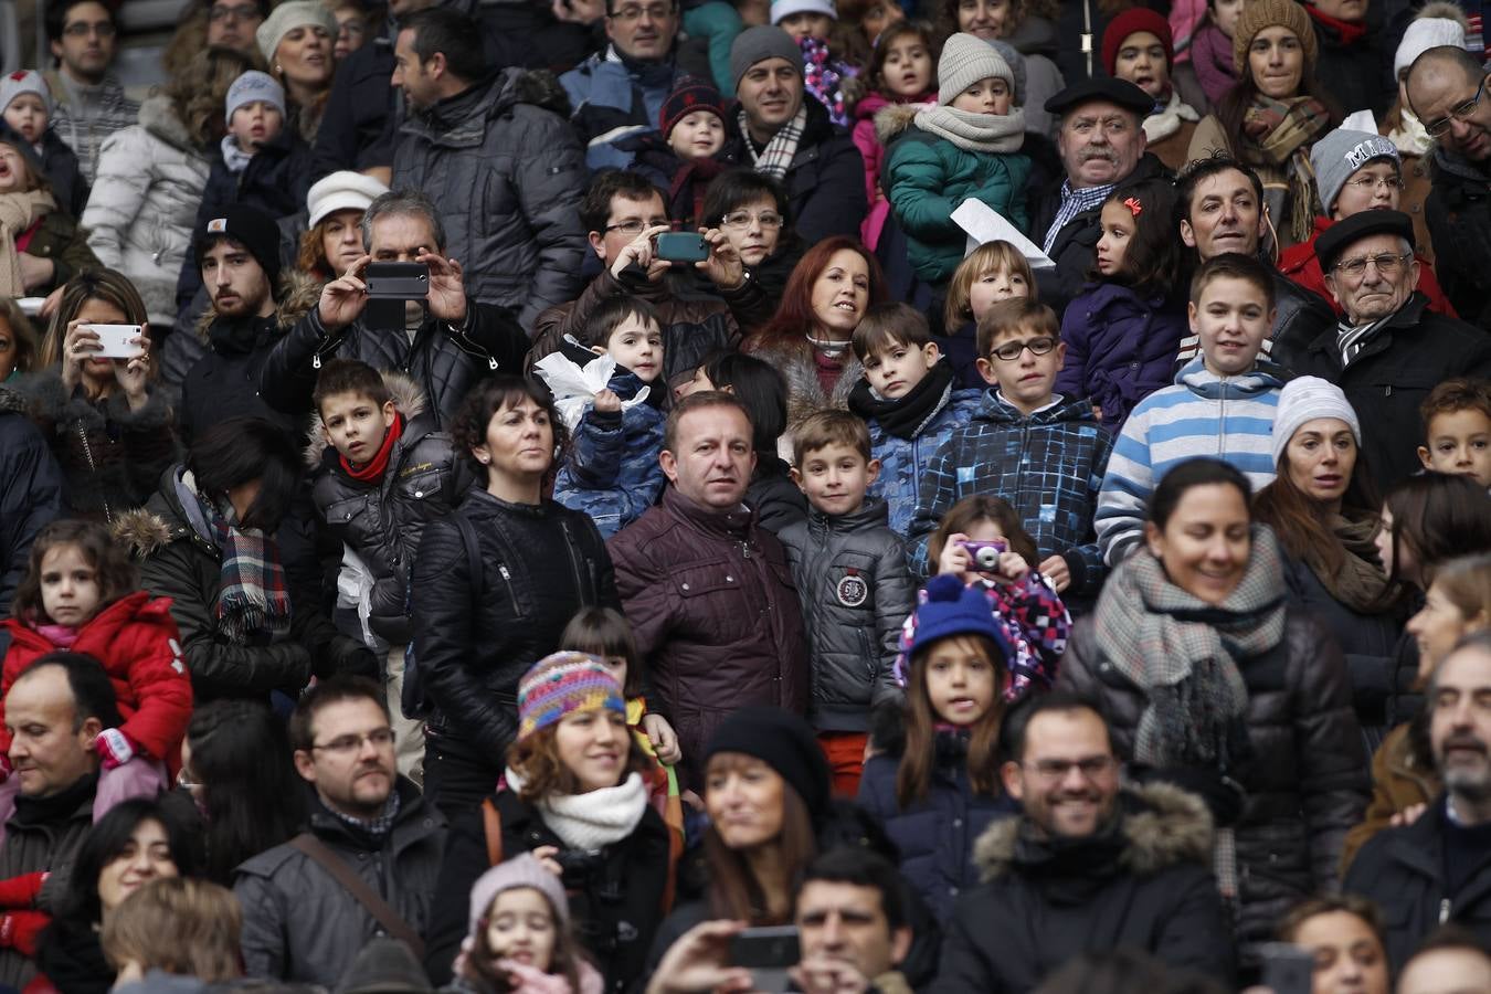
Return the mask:
<svg viewBox="0 0 1491 994">
<path fill-rule="evenodd" d="M 978 322 L 978 374 L 990 389 L 921 478 L 911 568 L 935 572 L 926 562 L 927 536 L 962 498 L 990 493 L 1020 514 L 1041 554 L 1038 572 L 1069 607 L 1096 598 L 1103 565 L 1093 510 L 1112 440 L 1087 398 L 1054 393 L 1066 358 L 1056 311 L 1026 297 L 994 304 Z"/>
</svg>

